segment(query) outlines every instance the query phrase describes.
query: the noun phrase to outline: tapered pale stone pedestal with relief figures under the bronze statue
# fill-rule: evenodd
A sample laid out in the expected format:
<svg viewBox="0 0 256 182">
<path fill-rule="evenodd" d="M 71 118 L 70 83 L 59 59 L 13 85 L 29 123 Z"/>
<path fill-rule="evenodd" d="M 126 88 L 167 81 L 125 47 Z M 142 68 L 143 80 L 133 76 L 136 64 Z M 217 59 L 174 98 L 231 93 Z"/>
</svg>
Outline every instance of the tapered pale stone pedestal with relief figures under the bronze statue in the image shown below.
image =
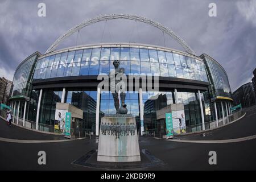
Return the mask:
<svg viewBox="0 0 256 182">
<path fill-rule="evenodd" d="M 97 161 L 141 161 L 135 117 L 101 118 Z"/>
</svg>

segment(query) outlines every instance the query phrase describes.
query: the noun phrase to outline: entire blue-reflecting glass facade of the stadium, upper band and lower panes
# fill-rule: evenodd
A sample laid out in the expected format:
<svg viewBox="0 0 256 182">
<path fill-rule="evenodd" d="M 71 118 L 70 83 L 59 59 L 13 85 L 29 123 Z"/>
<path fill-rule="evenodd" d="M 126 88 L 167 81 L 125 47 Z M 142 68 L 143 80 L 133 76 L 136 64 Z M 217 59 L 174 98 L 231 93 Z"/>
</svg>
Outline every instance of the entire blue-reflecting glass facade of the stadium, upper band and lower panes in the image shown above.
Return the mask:
<svg viewBox="0 0 256 182">
<path fill-rule="evenodd" d="M 215 118 L 214 97 L 231 97 L 228 76 L 217 61 L 203 54 L 200 57 L 189 56 L 185 53 L 147 46 L 98 46 L 72 51 L 62 51 L 40 58 L 36 52 L 29 56 L 16 69 L 13 80 L 13 96 L 26 96 L 26 119 L 36 121 L 36 110 L 40 89 L 32 90 L 32 80 L 42 80 L 56 77 L 87 76 L 109 74 L 114 69 L 113 61 L 119 60 L 119 67 L 125 68 L 126 75 L 146 74 L 161 77 L 185 78 L 189 80 L 209 82 L 208 90 L 201 93 L 204 121 L 213 121 Z M 202 61 L 204 60 L 204 61 Z M 66 83 L 65 83 L 66 84 Z M 171 83 L 172 84 L 172 83 Z M 72 104 L 83 111 L 81 119 L 82 130 L 96 132 L 96 103 L 97 88 L 65 87 L 64 102 Z M 175 104 L 174 88 L 167 88 L 164 92 L 143 92 L 144 129 L 161 131 L 159 121 L 156 121 L 156 111 L 170 104 Z M 185 122 L 187 126 L 201 123 L 201 110 L 198 90 L 186 88 L 177 90 L 177 103 L 184 104 Z M 61 102 L 63 86 L 44 88 L 39 113 L 39 130 L 48 131 L 54 128 L 56 103 Z M 28 98 L 28 99 L 27 99 Z M 155 99 L 152 99 L 155 98 Z M 25 100 L 20 101 L 19 117 L 23 117 Z M 14 104 L 14 103 L 13 103 Z M 140 128 L 140 108 L 138 92 L 127 92 L 125 98 L 128 114 L 133 114 Z M 225 101 L 224 113 L 226 113 Z M 216 101 L 218 118 L 222 117 L 221 103 Z M 112 93 L 100 94 L 100 119 L 104 114 L 115 114 Z M 101 123 L 101 122 L 100 122 Z M 52 126 L 52 127 L 47 127 Z M 188 130 L 196 131 L 189 127 Z"/>
</svg>

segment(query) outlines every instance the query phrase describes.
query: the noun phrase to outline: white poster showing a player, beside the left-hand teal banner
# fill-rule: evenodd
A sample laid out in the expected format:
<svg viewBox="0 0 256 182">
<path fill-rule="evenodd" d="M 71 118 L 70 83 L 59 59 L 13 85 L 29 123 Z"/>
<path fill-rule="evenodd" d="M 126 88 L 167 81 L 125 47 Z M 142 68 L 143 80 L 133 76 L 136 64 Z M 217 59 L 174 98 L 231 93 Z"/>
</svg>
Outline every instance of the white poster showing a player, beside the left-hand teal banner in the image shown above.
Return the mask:
<svg viewBox="0 0 256 182">
<path fill-rule="evenodd" d="M 54 131 L 56 133 L 64 133 L 65 129 L 65 117 L 68 110 L 56 109 L 55 110 L 55 125 Z"/>
</svg>

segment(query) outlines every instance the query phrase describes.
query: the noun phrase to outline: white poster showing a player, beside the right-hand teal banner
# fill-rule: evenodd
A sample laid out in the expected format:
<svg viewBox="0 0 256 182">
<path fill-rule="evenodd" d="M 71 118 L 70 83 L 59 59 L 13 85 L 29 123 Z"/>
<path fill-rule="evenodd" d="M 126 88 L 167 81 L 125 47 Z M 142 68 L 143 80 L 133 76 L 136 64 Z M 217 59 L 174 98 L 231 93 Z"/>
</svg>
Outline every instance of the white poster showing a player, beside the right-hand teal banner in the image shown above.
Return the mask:
<svg viewBox="0 0 256 182">
<path fill-rule="evenodd" d="M 186 133 L 185 111 L 184 110 L 172 111 L 172 123 L 174 127 L 174 133 L 176 134 Z"/>
</svg>

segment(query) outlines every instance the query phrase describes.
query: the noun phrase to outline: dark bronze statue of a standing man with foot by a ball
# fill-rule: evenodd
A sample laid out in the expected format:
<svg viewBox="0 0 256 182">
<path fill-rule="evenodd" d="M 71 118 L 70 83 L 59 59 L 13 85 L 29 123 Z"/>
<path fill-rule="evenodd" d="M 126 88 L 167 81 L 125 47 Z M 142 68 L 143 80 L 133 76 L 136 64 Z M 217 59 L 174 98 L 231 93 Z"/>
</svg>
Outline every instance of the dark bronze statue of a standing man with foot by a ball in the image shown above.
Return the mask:
<svg viewBox="0 0 256 182">
<path fill-rule="evenodd" d="M 119 60 L 114 60 L 113 61 L 113 65 L 115 68 L 115 75 L 117 76 L 118 73 L 125 73 L 125 68 L 119 68 Z M 120 82 L 121 80 L 115 80 L 115 85 L 116 86 L 118 84 L 118 82 Z M 122 89 L 122 87 L 121 87 Z M 112 88 L 111 90 L 115 90 L 115 88 Z M 115 105 L 115 110 L 117 111 L 116 114 L 127 114 L 127 108 L 126 108 L 126 104 L 125 104 L 125 93 L 121 92 L 120 93 L 120 97 L 121 97 L 121 108 L 119 105 L 119 98 L 118 98 L 118 92 L 117 90 L 114 91 L 114 93 L 112 93 L 112 96 L 114 98 L 114 105 Z"/>
</svg>

